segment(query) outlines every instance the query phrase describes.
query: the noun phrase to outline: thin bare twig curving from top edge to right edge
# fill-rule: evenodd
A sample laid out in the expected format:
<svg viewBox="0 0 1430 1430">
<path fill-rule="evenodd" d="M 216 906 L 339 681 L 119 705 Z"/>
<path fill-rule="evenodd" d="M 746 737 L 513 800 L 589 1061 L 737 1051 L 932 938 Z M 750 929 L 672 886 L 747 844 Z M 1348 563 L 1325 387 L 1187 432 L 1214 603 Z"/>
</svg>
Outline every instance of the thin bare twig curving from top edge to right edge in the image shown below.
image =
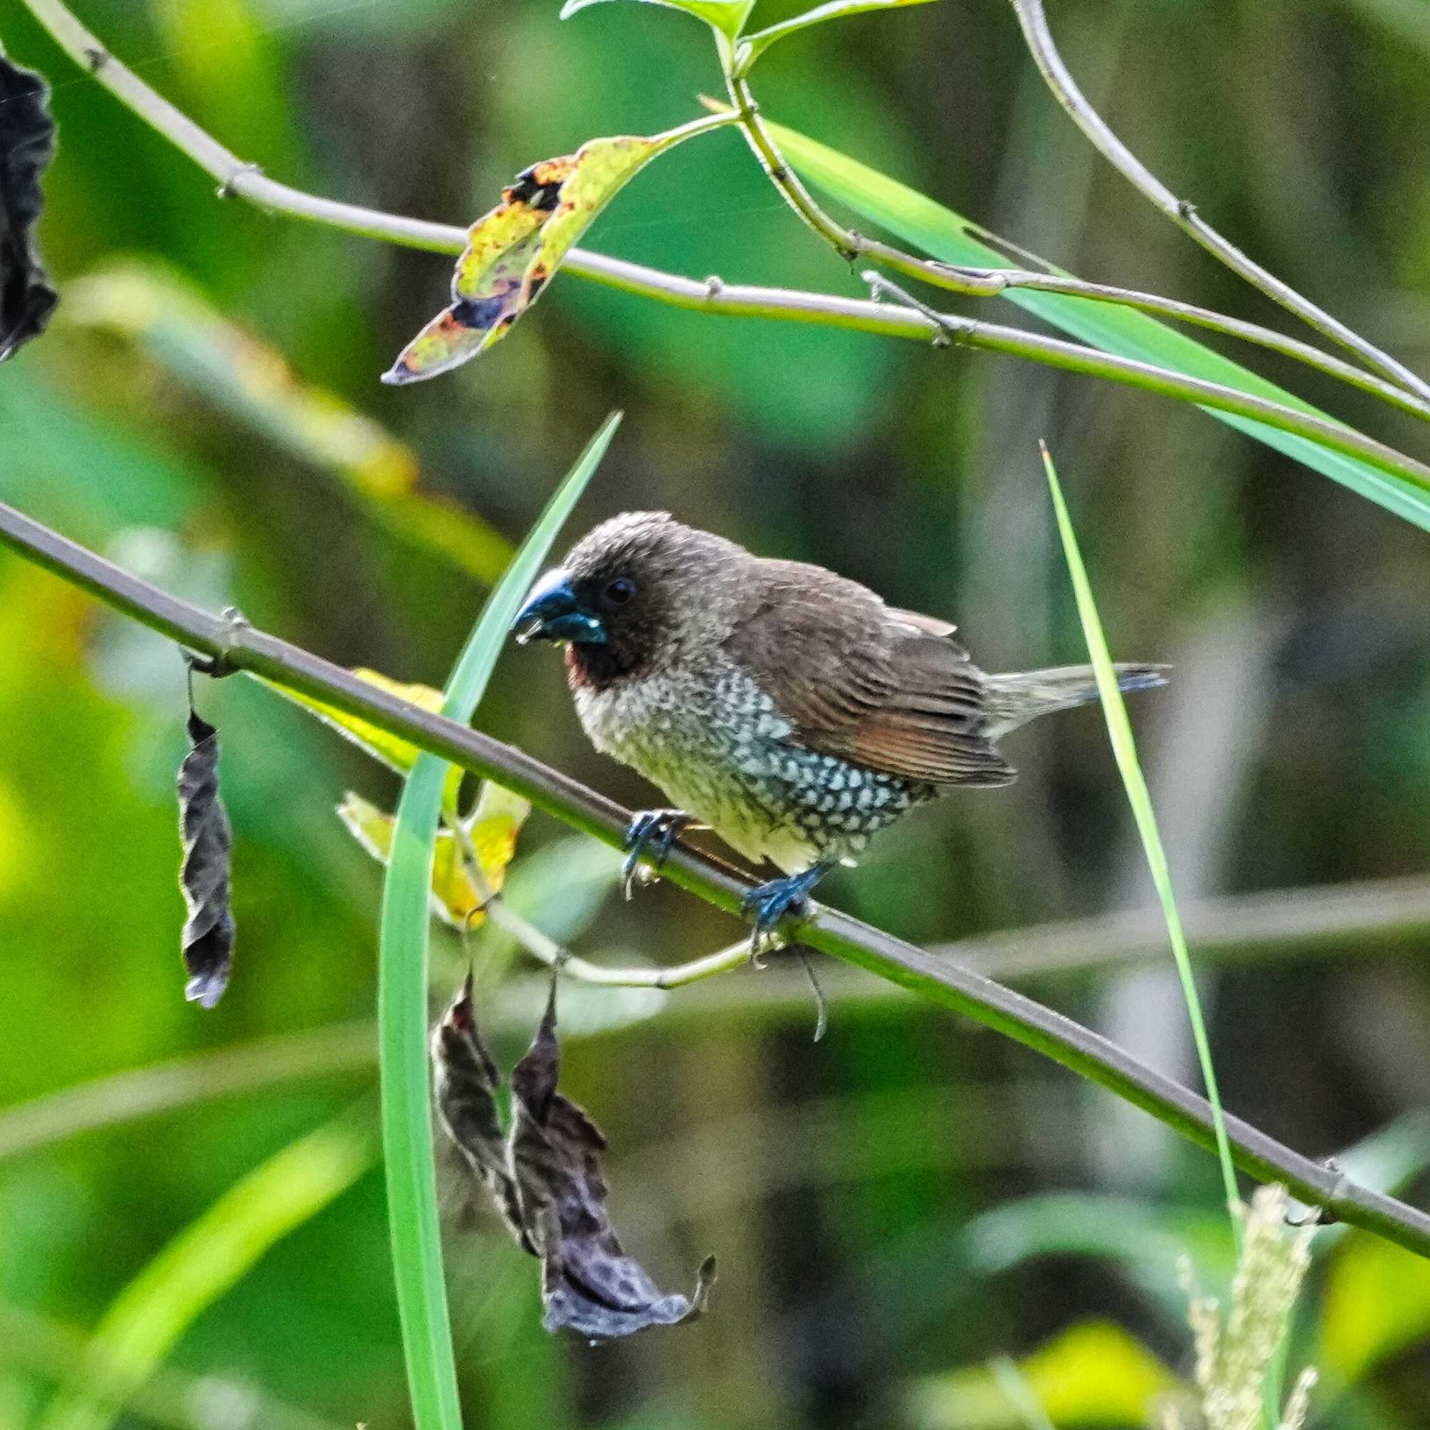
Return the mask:
<svg viewBox="0 0 1430 1430">
<path fill-rule="evenodd" d="M 1058 103 L 1072 116 L 1072 122 L 1087 134 L 1093 146 L 1144 199 L 1171 219 L 1183 232 L 1191 235 L 1208 253 L 1244 277 L 1253 287 L 1266 293 L 1273 302 L 1296 313 L 1297 317 L 1308 323 L 1318 333 L 1354 352 L 1363 362 L 1397 386 L 1416 393 L 1421 399 L 1430 399 L 1430 382 L 1426 382 L 1419 373 L 1411 372 L 1404 363 L 1383 353 L 1374 343 L 1367 342 L 1354 329 L 1340 322 L 1340 319 L 1331 317 L 1330 313 L 1317 307 L 1310 299 L 1303 297 L 1274 273 L 1268 273 L 1211 227 L 1191 203 L 1185 199 L 1178 199 L 1108 129 L 1105 120 L 1078 89 L 1068 67 L 1062 63 L 1062 56 L 1058 54 L 1057 46 L 1052 43 L 1052 31 L 1048 29 L 1042 0 L 1011 0 L 1011 4 L 1022 27 L 1028 49 L 1032 51 L 1032 59 L 1048 83 L 1048 89 L 1052 90 Z"/>
</svg>

